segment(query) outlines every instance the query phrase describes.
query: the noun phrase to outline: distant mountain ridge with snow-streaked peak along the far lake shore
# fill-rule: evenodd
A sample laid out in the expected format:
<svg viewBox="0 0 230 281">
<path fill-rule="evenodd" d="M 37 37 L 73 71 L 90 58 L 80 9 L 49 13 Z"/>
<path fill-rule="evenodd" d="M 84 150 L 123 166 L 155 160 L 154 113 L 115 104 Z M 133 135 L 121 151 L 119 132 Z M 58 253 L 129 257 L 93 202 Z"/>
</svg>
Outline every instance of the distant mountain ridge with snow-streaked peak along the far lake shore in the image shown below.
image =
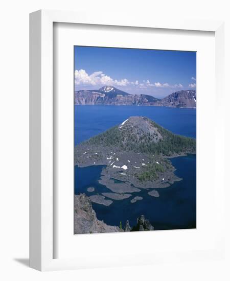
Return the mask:
<svg viewBox="0 0 230 281">
<path fill-rule="evenodd" d="M 79 90 L 74 93 L 76 105 L 146 105 L 168 107 L 196 107 L 196 90 L 174 92 L 160 100 L 149 95 L 132 95 L 113 86 L 98 90 Z"/>
</svg>

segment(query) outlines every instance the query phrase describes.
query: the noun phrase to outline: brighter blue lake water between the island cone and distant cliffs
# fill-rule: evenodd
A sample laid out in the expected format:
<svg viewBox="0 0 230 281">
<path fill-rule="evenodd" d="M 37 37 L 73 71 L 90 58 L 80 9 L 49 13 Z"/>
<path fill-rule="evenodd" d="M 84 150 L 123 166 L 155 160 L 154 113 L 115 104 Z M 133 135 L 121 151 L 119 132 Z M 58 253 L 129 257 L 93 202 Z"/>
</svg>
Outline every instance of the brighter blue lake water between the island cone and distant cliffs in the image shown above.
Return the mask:
<svg viewBox="0 0 230 281">
<path fill-rule="evenodd" d="M 130 116 L 146 116 L 175 134 L 196 137 L 196 109 L 158 106 L 75 105 L 75 145 Z"/>
</svg>

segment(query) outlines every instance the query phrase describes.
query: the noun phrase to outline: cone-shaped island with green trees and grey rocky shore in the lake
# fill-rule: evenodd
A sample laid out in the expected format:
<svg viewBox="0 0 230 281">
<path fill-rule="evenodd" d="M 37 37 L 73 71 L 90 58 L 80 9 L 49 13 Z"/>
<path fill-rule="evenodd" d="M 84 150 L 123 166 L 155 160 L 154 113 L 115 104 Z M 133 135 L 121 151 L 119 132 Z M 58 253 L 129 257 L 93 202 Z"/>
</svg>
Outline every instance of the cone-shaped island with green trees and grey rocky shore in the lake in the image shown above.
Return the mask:
<svg viewBox="0 0 230 281">
<path fill-rule="evenodd" d="M 75 165 L 106 165 L 100 183 L 115 193 L 166 188 L 180 180 L 170 157 L 196 152 L 196 140 L 133 116 L 75 147 Z M 117 184 L 114 180 L 120 180 Z"/>
</svg>

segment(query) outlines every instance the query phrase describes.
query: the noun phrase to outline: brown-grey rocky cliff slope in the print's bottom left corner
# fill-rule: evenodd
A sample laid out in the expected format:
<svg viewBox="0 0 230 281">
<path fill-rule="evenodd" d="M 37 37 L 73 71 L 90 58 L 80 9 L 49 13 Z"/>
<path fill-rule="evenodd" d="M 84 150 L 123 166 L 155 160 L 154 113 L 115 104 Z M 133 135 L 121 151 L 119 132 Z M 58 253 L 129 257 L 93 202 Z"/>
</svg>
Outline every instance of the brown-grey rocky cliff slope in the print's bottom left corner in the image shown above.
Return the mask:
<svg viewBox="0 0 230 281">
<path fill-rule="evenodd" d="M 74 234 L 121 232 L 118 226 L 97 219 L 90 199 L 85 194 L 74 196 Z"/>
</svg>

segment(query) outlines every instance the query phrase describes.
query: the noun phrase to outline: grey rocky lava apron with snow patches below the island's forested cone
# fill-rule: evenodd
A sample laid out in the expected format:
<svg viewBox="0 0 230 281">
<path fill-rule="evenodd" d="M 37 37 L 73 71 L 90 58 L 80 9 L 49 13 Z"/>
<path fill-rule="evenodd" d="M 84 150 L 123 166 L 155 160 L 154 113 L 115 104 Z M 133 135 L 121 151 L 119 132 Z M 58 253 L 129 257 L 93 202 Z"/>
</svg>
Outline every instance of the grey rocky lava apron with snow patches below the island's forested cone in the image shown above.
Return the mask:
<svg viewBox="0 0 230 281">
<path fill-rule="evenodd" d="M 173 157 L 184 155 L 186 154 L 174 154 Z M 102 151 L 100 147 L 92 150 L 90 147 L 79 145 L 75 149 L 75 165 L 78 167 L 104 166 L 99 183 L 105 185 L 112 193 L 133 193 L 140 192 L 141 189 L 167 188 L 175 181 L 181 180 L 174 174 L 175 168 L 171 162 L 167 161 L 169 158 L 172 157 L 124 151 L 119 153 L 114 147 L 104 148 Z M 137 175 L 145 171 L 146 167 L 152 163 L 159 163 L 165 167 L 165 171 L 159 173 L 159 178 L 154 181 L 141 182 Z"/>
</svg>

